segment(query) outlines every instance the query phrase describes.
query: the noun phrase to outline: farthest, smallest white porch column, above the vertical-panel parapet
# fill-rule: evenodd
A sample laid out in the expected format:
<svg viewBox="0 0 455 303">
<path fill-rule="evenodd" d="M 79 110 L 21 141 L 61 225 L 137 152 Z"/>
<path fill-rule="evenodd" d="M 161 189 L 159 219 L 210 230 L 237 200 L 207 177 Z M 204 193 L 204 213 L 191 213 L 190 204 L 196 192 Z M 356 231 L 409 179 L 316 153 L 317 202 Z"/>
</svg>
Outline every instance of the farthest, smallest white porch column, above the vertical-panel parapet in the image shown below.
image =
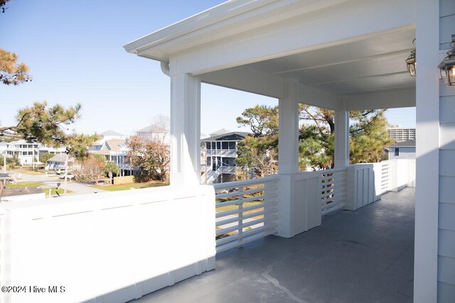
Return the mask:
<svg viewBox="0 0 455 303">
<path fill-rule="evenodd" d="M 349 165 L 349 111 L 335 111 L 335 168 Z"/>
</svg>

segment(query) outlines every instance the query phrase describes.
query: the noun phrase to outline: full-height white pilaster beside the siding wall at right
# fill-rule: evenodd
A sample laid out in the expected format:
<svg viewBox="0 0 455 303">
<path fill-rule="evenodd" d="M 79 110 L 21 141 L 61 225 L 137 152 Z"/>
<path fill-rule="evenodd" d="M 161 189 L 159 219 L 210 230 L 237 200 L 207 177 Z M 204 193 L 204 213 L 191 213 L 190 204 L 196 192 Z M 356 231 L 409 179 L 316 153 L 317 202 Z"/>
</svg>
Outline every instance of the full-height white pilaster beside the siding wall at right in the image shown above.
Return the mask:
<svg viewBox="0 0 455 303">
<path fill-rule="evenodd" d="M 439 1 L 417 0 L 416 15 L 414 302 L 423 303 L 438 301 Z"/>
</svg>

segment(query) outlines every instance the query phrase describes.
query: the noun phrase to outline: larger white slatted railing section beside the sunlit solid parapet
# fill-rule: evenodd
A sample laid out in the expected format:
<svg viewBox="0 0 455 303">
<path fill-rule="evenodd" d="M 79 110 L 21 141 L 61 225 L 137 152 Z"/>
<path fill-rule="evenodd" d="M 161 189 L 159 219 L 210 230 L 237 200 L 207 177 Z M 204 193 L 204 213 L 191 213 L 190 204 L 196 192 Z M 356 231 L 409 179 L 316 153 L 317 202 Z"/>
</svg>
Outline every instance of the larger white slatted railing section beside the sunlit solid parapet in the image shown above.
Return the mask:
<svg viewBox="0 0 455 303">
<path fill-rule="evenodd" d="M 217 252 L 277 232 L 277 176 L 215 184 Z"/>
</svg>

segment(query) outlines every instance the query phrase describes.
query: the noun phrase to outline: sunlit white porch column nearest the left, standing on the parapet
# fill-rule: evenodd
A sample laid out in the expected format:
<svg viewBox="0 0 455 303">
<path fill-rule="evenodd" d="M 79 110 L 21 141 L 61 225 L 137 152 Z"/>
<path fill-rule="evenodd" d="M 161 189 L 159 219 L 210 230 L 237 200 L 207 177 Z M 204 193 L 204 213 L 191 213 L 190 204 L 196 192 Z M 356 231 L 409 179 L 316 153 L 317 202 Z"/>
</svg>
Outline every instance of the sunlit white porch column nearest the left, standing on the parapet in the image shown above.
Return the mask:
<svg viewBox="0 0 455 303">
<path fill-rule="evenodd" d="M 200 79 L 171 75 L 171 186 L 199 184 Z"/>
</svg>

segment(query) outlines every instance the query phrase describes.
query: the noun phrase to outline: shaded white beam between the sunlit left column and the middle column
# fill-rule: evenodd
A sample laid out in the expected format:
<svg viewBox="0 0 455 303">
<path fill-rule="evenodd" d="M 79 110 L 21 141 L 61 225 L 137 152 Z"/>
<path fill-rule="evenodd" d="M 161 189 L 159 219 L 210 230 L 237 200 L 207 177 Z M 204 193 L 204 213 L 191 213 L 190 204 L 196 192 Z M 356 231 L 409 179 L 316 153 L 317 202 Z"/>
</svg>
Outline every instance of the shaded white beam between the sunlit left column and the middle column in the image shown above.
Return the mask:
<svg viewBox="0 0 455 303">
<path fill-rule="evenodd" d="M 284 97 L 285 79 L 269 75 L 252 67 L 240 66 L 200 75 L 204 83 L 260 94 L 272 98 Z"/>
</svg>

